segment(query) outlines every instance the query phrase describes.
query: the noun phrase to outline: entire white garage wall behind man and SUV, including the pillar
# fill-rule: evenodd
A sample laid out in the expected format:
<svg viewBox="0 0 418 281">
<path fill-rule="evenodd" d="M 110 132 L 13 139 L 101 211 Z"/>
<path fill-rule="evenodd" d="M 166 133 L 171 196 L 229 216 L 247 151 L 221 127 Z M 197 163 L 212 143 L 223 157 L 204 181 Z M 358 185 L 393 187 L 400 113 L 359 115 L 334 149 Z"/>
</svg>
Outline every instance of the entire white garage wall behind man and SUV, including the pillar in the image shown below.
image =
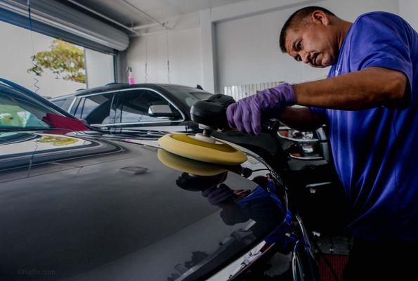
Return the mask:
<svg viewBox="0 0 418 281">
<path fill-rule="evenodd" d="M 171 83 L 223 92 L 224 86 L 268 81 L 297 83 L 325 78 L 328 70 L 296 63 L 281 53 L 278 35 L 285 20 L 303 6 L 324 6 L 353 21 L 369 11 L 399 13 L 417 29 L 417 0 L 253 0 L 200 11 L 178 20 L 169 32 Z M 178 17 L 181 19 L 181 17 Z M 171 24 L 172 20 L 169 20 Z M 211 26 L 215 26 L 211 28 Z M 191 29 L 190 29 L 191 28 Z M 213 38 L 212 38 L 213 36 Z M 148 40 L 148 82 L 167 82 L 165 33 L 136 37 L 126 51 L 137 82 L 145 81 Z M 202 46 L 202 42 L 204 46 Z M 215 55 L 212 55 L 212 47 Z M 214 83 L 214 80 L 217 80 Z"/>
</svg>

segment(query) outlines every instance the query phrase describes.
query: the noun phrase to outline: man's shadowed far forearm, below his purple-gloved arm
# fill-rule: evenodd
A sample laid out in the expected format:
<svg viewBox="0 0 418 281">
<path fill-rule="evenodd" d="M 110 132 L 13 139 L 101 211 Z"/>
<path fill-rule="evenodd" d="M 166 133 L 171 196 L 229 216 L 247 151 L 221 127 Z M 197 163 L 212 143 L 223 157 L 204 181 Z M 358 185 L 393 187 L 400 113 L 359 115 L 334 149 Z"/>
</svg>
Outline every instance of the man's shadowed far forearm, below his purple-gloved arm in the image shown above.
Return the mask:
<svg viewBox="0 0 418 281">
<path fill-rule="evenodd" d="M 280 122 L 298 131 L 315 131 L 323 124 L 308 107 L 286 107 Z"/>
</svg>

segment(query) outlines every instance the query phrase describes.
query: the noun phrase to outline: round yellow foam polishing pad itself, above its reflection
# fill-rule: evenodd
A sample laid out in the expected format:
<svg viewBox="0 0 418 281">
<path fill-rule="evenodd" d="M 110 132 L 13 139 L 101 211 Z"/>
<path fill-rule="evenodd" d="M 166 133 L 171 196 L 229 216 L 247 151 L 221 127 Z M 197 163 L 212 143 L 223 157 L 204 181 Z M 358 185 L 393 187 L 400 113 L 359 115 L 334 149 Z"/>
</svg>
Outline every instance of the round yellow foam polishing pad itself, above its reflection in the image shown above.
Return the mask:
<svg viewBox="0 0 418 281">
<path fill-rule="evenodd" d="M 197 161 L 222 165 L 238 165 L 247 161 L 247 156 L 227 143 L 207 143 L 187 133 L 169 133 L 158 140 L 165 150 Z"/>
</svg>

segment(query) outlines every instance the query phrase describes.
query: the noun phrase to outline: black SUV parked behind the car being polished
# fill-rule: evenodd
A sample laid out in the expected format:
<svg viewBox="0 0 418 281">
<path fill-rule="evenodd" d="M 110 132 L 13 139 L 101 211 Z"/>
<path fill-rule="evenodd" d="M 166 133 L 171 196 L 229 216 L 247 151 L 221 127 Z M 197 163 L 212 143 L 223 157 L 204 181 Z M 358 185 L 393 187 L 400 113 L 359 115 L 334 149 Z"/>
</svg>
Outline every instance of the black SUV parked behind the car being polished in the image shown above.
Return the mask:
<svg viewBox="0 0 418 281">
<path fill-rule="evenodd" d="M 190 107 L 212 95 L 198 88 L 112 83 L 51 101 L 100 130 L 125 134 L 138 129 L 192 133 L 200 129 L 191 120 Z M 293 190 L 297 190 L 295 198 L 299 198 L 301 213 L 312 230 L 344 231 L 346 199 L 334 171 L 326 128 L 300 132 L 281 126 L 271 136 L 267 133 L 250 136 L 237 131 L 213 135 L 256 152 L 280 171 Z"/>
</svg>

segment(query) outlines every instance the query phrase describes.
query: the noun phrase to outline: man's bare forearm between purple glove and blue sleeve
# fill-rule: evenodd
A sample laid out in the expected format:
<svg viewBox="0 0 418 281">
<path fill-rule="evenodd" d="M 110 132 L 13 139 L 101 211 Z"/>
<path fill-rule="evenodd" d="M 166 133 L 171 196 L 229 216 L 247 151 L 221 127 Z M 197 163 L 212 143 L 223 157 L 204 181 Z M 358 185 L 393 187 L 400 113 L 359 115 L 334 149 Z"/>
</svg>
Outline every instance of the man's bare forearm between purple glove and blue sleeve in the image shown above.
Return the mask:
<svg viewBox="0 0 418 281">
<path fill-rule="evenodd" d="M 402 72 L 370 67 L 337 77 L 293 85 L 296 104 L 337 110 L 399 107 L 407 87 Z M 298 118 L 298 117 L 296 117 Z"/>
</svg>

